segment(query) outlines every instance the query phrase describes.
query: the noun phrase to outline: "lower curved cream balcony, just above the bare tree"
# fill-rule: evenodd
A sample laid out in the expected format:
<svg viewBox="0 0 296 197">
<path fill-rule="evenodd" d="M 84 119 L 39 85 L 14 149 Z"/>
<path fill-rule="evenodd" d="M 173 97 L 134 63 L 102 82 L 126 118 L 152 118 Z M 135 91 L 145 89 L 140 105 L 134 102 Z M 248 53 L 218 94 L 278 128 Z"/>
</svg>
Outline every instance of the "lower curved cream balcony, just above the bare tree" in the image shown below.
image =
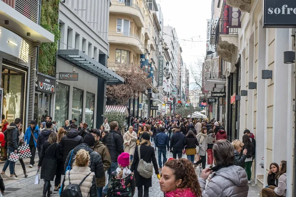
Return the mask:
<svg viewBox="0 0 296 197">
<path fill-rule="evenodd" d="M 121 44 L 131 47 L 135 53 L 144 54 L 144 45 L 140 37 L 132 33 L 109 32 L 110 44 Z"/>
</svg>

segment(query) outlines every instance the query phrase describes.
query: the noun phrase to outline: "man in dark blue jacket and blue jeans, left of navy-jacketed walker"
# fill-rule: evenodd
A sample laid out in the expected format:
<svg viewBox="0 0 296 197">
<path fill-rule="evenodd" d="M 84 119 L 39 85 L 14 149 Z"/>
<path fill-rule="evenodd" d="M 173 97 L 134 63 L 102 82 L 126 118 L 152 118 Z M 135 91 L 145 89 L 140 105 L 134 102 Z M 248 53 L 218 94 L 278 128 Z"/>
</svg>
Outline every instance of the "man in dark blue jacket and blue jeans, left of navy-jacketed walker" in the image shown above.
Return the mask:
<svg viewBox="0 0 296 197">
<path fill-rule="evenodd" d="M 158 164 L 159 164 L 159 170 L 162 170 L 162 165 L 164 165 L 164 163 L 166 163 L 166 146 L 168 148 L 168 151 L 169 151 L 169 148 L 170 148 L 170 145 L 169 145 L 169 136 L 164 132 L 165 131 L 165 128 L 162 127 L 160 128 L 160 133 L 156 134 L 155 136 L 155 145 L 156 147 L 158 148 Z M 163 157 L 163 163 L 161 163 L 161 154 L 162 154 L 162 157 Z"/>
</svg>

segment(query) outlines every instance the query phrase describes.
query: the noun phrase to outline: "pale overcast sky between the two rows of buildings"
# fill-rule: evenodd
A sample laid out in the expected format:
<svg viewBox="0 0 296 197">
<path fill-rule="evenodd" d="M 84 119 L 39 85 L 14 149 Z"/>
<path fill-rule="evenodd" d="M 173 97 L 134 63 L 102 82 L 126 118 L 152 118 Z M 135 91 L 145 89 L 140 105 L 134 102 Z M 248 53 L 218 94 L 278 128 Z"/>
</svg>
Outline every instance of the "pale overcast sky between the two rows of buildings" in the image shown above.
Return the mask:
<svg viewBox="0 0 296 197">
<path fill-rule="evenodd" d="M 156 0 L 160 3 L 164 26 L 176 28 L 180 39 L 202 41 L 189 42 L 179 40 L 182 47 L 183 61 L 188 66 L 197 59 L 204 59 L 206 54 L 207 19 L 211 18 L 212 0 Z M 192 82 L 192 77 L 190 82 Z M 190 84 L 190 89 L 193 85 Z"/>
</svg>

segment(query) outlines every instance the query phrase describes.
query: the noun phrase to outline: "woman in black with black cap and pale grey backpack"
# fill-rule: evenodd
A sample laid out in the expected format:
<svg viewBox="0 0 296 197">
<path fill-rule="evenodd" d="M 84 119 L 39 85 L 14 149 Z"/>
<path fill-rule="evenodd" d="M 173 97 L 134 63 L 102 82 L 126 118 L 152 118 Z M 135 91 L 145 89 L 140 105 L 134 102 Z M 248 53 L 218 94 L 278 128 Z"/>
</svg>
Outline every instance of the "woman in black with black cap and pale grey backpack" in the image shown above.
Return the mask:
<svg viewBox="0 0 296 197">
<path fill-rule="evenodd" d="M 140 152 L 139 152 L 140 150 Z M 139 157 L 140 155 L 140 157 Z M 143 160 L 143 161 L 142 161 Z M 152 168 L 151 171 L 147 171 L 146 173 L 139 173 L 139 164 L 146 163 L 150 164 L 152 162 L 155 174 L 159 174 L 157 162 L 155 158 L 154 148 L 151 146 L 150 142 L 150 134 L 148 132 L 144 132 L 142 134 L 142 142 L 140 147 L 136 147 L 133 164 L 131 166 L 131 171 L 135 173 L 136 179 L 136 187 L 138 187 L 138 197 L 143 197 L 143 186 L 144 186 L 144 197 L 149 197 L 149 187 L 152 186 Z M 142 170 L 141 170 L 142 171 Z M 145 178 L 144 176 L 149 178 Z"/>
</svg>

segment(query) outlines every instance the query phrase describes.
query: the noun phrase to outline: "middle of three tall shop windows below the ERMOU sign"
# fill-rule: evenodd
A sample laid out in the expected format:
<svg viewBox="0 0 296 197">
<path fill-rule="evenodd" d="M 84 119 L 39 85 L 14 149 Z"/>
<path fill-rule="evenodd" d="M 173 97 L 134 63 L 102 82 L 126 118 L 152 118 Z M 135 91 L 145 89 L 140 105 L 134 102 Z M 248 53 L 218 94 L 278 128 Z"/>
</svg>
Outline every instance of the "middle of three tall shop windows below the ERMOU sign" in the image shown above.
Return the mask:
<svg viewBox="0 0 296 197">
<path fill-rule="evenodd" d="M 72 100 L 72 120 L 76 118 L 79 123 L 82 121 L 83 90 L 73 88 Z"/>
</svg>

